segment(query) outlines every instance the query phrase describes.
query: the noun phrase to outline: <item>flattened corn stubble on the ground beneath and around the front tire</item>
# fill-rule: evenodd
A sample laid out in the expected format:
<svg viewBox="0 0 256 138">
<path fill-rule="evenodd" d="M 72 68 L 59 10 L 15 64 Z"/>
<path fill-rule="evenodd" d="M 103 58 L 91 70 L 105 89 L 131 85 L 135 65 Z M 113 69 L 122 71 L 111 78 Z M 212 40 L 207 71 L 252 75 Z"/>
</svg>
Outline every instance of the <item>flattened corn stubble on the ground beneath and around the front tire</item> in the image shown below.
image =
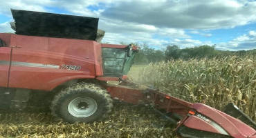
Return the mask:
<svg viewBox="0 0 256 138">
<path fill-rule="evenodd" d="M 145 106 L 115 102 L 113 113 L 105 121 L 91 124 L 67 124 L 49 112 L 5 112 L 0 115 L 0 138 L 3 137 L 175 137 L 164 119 Z M 35 109 L 37 110 L 37 109 Z M 4 111 L 2 111 L 4 112 Z"/>
</svg>

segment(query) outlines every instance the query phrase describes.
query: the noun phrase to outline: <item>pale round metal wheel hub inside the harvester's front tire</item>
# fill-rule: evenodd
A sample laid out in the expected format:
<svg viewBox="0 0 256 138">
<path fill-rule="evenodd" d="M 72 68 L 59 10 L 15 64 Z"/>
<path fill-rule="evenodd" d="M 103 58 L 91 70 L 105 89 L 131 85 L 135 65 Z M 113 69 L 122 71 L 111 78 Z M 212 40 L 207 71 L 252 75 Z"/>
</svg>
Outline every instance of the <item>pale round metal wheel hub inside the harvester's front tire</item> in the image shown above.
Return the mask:
<svg viewBox="0 0 256 138">
<path fill-rule="evenodd" d="M 68 103 L 68 112 L 74 117 L 89 117 L 97 109 L 98 104 L 90 97 L 77 97 Z"/>
</svg>

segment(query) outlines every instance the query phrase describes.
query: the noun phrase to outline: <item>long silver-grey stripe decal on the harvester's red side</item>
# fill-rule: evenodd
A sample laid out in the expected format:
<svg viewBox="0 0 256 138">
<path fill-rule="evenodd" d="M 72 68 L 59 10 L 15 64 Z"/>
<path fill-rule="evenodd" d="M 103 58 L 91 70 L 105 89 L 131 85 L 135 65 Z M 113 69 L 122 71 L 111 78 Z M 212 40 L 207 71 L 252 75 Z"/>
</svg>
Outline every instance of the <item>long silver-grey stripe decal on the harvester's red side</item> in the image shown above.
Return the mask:
<svg viewBox="0 0 256 138">
<path fill-rule="evenodd" d="M 1 65 L 9 65 L 10 61 L 0 61 Z M 28 63 L 28 62 L 19 62 L 19 61 L 12 61 L 11 66 L 24 66 L 24 67 L 34 67 L 34 68 L 60 68 L 57 65 L 51 64 L 43 64 L 43 63 Z"/>
</svg>

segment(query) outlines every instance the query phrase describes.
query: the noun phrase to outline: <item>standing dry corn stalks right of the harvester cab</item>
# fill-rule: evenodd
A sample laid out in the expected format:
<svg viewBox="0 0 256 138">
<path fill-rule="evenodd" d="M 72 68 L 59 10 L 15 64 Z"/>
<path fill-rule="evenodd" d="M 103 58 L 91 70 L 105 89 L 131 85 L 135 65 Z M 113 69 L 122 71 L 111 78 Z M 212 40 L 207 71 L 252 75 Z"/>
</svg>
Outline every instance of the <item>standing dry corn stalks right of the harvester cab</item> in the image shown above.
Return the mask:
<svg viewBox="0 0 256 138">
<path fill-rule="evenodd" d="M 256 57 L 190 59 L 151 63 L 133 81 L 154 86 L 174 97 L 223 110 L 235 103 L 256 120 Z"/>
</svg>

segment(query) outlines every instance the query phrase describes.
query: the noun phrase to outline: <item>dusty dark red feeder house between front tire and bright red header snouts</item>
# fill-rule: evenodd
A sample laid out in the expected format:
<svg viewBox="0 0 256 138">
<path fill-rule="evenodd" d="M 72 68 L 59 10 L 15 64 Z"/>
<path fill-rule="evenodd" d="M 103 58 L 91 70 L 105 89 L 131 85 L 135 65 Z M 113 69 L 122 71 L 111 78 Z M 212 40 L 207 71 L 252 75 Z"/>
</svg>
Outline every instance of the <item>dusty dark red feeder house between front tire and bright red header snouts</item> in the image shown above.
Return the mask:
<svg viewBox="0 0 256 138">
<path fill-rule="evenodd" d="M 133 88 L 129 85 L 107 86 L 107 90 L 111 97 L 118 98 L 120 101 L 133 104 L 138 104 L 140 101 L 154 103 L 158 109 L 165 110 L 165 112 L 175 112 L 183 117 L 186 117 L 190 110 L 190 106 L 192 106 L 192 103 L 189 103 L 188 101 L 171 97 L 163 92 Z"/>
</svg>

